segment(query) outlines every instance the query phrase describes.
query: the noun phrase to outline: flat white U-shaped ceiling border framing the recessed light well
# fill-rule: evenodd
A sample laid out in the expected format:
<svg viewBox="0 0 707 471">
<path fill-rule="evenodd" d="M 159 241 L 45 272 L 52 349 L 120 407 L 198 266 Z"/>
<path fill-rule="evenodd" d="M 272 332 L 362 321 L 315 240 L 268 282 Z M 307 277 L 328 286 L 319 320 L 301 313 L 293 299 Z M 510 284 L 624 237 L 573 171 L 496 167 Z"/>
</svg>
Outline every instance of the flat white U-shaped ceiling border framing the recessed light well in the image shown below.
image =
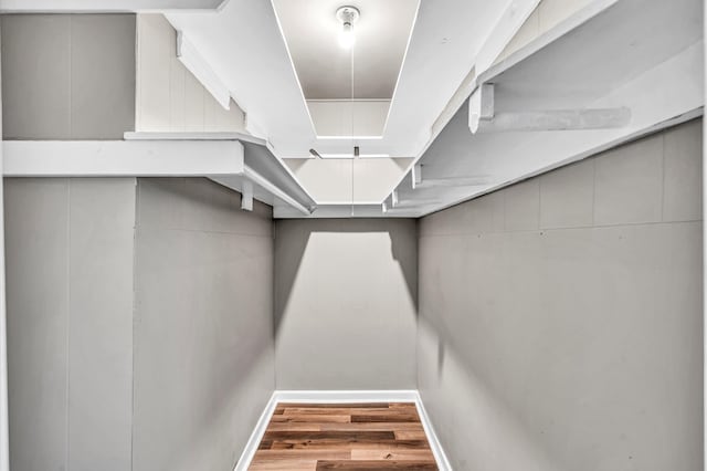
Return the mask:
<svg viewBox="0 0 707 471">
<path fill-rule="evenodd" d="M 363 154 L 413 157 L 510 3 L 421 2 L 384 136 L 358 143 L 317 139 L 271 2 L 232 0 L 219 13 L 168 19 L 211 64 L 247 113 L 249 128 L 268 139 L 278 158 L 307 158 L 310 148 L 349 154 L 352 144 Z"/>
</svg>

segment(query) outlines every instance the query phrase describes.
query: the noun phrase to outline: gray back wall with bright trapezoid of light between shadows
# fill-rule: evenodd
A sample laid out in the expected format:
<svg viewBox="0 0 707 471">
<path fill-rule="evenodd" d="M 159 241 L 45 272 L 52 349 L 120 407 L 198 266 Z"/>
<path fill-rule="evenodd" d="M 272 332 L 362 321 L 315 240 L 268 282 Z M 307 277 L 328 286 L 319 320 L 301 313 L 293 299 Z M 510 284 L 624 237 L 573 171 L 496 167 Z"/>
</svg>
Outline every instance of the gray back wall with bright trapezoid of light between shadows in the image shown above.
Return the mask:
<svg viewBox="0 0 707 471">
<path fill-rule="evenodd" d="M 277 389 L 414 389 L 416 223 L 275 223 Z"/>
</svg>

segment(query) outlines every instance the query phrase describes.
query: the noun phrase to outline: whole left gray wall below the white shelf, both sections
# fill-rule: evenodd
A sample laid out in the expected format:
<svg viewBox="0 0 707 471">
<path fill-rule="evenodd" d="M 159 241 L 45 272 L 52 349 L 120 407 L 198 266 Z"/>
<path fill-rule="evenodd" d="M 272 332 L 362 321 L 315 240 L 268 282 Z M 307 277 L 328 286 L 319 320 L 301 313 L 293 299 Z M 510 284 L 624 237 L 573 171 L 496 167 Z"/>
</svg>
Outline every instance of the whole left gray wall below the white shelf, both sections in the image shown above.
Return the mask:
<svg viewBox="0 0 707 471">
<path fill-rule="evenodd" d="M 275 385 L 272 210 L 205 179 L 4 184 L 12 469 L 233 469 Z"/>
</svg>

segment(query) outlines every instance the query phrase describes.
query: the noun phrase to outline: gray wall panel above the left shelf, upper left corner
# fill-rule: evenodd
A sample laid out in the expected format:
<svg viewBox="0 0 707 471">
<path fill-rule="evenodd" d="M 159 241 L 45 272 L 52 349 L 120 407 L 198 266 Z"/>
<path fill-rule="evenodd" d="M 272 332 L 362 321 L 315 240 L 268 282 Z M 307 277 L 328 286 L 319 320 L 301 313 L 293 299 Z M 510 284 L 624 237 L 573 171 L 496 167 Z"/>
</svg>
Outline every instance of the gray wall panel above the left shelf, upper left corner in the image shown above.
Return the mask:
<svg viewBox="0 0 707 471">
<path fill-rule="evenodd" d="M 134 14 L 2 15 L 6 139 L 135 129 Z"/>
</svg>

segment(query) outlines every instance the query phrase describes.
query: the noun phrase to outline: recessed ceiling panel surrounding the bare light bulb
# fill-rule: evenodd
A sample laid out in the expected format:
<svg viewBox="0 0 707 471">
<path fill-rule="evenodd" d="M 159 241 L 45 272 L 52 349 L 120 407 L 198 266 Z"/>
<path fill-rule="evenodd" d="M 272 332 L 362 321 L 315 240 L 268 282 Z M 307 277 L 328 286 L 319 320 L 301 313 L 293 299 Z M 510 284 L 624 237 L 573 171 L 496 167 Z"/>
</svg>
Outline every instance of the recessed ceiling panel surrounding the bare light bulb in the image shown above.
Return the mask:
<svg viewBox="0 0 707 471">
<path fill-rule="evenodd" d="M 393 96 L 419 0 L 273 0 L 273 4 L 307 100 Z M 361 12 L 351 50 L 338 44 L 341 23 L 335 13 L 345 4 Z"/>
</svg>

